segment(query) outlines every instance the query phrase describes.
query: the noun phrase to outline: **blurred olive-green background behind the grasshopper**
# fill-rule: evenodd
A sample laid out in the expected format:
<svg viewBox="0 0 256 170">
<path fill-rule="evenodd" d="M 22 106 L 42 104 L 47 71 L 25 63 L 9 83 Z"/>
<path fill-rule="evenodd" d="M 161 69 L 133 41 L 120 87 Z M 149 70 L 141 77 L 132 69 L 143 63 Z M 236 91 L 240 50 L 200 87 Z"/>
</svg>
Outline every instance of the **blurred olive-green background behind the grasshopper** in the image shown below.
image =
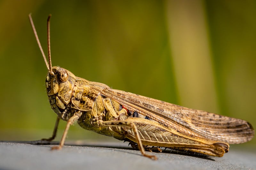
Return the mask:
<svg viewBox="0 0 256 170">
<path fill-rule="evenodd" d="M 52 14 L 53 66 L 256 127 L 256 1 L 2 0 L 0 140 L 50 137 L 56 119 L 30 12 L 44 52 Z M 67 140 L 96 138 L 111 139 L 75 125 Z"/>
</svg>

